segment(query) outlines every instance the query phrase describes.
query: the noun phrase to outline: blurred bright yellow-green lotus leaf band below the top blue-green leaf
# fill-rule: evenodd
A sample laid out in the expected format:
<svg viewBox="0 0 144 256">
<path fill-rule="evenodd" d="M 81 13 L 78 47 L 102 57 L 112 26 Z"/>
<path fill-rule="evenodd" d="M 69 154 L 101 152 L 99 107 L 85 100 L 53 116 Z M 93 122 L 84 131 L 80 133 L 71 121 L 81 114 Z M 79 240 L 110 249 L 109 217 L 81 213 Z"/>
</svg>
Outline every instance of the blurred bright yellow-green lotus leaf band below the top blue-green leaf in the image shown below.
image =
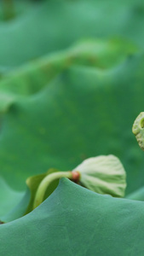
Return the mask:
<svg viewBox="0 0 144 256">
<path fill-rule="evenodd" d="M 0 111 L 7 111 L 20 96 L 23 98 L 43 90 L 44 86 L 67 67 L 83 65 L 103 70 L 115 67 L 136 52 L 137 47 L 128 40 L 89 39 L 70 49 L 32 61 L 3 77 L 0 82 Z"/>
</svg>

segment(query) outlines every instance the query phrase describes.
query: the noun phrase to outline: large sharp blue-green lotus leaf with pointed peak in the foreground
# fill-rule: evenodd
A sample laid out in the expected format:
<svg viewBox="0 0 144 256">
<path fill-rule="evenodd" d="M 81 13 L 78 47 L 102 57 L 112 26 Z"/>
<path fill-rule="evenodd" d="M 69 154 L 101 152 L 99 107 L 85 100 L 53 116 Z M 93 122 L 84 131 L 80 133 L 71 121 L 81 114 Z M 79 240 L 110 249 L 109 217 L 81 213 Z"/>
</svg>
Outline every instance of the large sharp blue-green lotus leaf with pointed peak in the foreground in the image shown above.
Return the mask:
<svg viewBox="0 0 144 256">
<path fill-rule="evenodd" d="M 142 256 L 143 212 L 141 201 L 99 195 L 61 179 L 34 211 L 0 225 L 0 253 Z"/>
</svg>

